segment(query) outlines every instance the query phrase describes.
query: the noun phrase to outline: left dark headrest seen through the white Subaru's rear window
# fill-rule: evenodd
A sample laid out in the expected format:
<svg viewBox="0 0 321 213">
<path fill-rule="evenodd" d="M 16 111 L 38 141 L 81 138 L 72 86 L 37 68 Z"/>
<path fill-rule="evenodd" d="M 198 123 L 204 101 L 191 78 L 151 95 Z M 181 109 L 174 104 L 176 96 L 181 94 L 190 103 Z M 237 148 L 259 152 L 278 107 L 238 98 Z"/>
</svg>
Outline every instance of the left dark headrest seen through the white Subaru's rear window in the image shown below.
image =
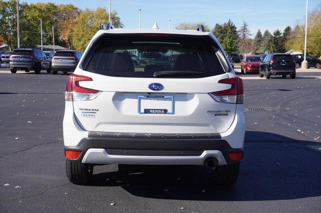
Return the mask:
<svg viewBox="0 0 321 213">
<path fill-rule="evenodd" d="M 114 52 L 110 60 L 110 71 L 133 72 L 134 63 L 128 52 Z"/>
</svg>

